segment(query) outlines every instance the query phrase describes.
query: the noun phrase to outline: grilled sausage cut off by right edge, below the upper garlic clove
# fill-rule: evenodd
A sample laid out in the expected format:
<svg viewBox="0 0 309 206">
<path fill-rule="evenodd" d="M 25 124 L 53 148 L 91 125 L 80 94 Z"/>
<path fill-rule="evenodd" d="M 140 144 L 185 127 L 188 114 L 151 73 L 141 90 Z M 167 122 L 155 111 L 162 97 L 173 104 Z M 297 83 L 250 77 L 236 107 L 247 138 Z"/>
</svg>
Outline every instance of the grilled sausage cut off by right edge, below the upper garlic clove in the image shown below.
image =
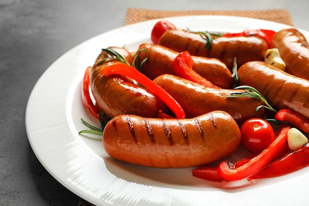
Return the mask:
<svg viewBox="0 0 309 206">
<path fill-rule="evenodd" d="M 290 109 L 309 119 L 309 81 L 265 62 L 248 62 L 238 69 L 241 85 L 256 88 L 275 109 Z"/>
</svg>

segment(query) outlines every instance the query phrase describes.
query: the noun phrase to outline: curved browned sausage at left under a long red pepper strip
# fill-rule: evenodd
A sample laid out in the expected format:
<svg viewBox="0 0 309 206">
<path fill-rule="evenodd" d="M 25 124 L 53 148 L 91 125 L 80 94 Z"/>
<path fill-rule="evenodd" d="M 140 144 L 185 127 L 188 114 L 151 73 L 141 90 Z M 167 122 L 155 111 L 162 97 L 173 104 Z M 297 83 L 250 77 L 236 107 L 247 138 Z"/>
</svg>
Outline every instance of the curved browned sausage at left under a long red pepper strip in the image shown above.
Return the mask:
<svg viewBox="0 0 309 206">
<path fill-rule="evenodd" d="M 111 47 L 120 53 L 129 63 L 133 57 L 125 48 Z M 95 60 L 90 75 L 90 87 L 96 105 L 107 116 L 113 118 L 121 114 L 135 114 L 141 117 L 156 117 L 159 110 L 165 111 L 165 105 L 149 90 L 137 86 L 122 76 L 104 77 L 100 71 L 111 64 L 123 64 L 111 60 L 97 65 L 103 59 L 112 57 L 102 51 Z"/>
</svg>

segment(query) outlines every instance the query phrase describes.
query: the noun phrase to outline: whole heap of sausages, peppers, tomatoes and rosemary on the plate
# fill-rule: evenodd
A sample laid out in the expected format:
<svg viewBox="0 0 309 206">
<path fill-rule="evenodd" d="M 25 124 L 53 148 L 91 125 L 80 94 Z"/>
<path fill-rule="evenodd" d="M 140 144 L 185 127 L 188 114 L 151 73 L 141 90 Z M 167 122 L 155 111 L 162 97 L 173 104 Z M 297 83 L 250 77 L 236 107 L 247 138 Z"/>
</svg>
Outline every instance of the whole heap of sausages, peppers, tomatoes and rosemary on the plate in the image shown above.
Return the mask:
<svg viewBox="0 0 309 206">
<path fill-rule="evenodd" d="M 151 39 L 132 53 L 102 49 L 84 74 L 82 101 L 102 129 L 82 122 L 103 135 L 107 154 L 148 167 L 199 166 L 193 176 L 223 182 L 309 165 L 309 81 L 288 73 L 307 64 L 297 62 L 308 53 L 299 31 L 210 34 L 163 20 Z M 303 53 L 292 57 L 293 49 Z M 230 162 L 239 148 L 251 155 Z"/>
</svg>

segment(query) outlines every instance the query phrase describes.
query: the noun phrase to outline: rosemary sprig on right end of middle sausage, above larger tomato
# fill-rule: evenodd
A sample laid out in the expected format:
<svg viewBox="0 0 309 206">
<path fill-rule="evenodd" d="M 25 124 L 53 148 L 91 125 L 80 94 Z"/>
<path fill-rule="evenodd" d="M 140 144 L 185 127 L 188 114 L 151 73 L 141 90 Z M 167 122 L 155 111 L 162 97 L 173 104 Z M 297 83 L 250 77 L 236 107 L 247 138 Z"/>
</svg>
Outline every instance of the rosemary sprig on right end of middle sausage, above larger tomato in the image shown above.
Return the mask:
<svg viewBox="0 0 309 206">
<path fill-rule="evenodd" d="M 261 106 L 258 106 L 256 109 L 255 109 L 255 112 L 257 113 L 259 109 L 261 108 L 265 108 L 265 109 L 268 109 L 272 112 L 277 112 L 275 109 L 273 109 L 270 104 L 268 103 L 268 101 L 262 96 L 262 94 L 256 90 L 255 88 L 253 88 L 252 86 L 237 86 L 235 87 L 234 89 L 244 89 L 245 91 L 244 92 L 240 92 L 240 93 L 232 93 L 230 96 L 227 96 L 228 98 L 231 98 L 231 97 L 250 97 L 250 98 L 254 98 L 254 99 L 260 99 L 263 101 L 263 103 L 265 105 L 261 105 Z"/>
</svg>

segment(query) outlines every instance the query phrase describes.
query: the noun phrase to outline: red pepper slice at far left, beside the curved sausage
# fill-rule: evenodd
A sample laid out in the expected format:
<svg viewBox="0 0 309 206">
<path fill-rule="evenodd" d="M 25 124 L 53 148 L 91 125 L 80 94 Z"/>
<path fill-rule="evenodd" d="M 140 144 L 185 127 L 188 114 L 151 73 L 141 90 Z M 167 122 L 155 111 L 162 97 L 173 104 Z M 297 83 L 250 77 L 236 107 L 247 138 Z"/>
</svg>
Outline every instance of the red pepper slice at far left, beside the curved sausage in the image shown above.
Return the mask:
<svg viewBox="0 0 309 206">
<path fill-rule="evenodd" d="M 81 99 L 83 105 L 87 110 L 96 118 L 99 118 L 99 109 L 93 104 L 90 98 L 89 85 L 90 85 L 90 73 L 92 67 L 87 67 L 81 85 Z"/>
</svg>

